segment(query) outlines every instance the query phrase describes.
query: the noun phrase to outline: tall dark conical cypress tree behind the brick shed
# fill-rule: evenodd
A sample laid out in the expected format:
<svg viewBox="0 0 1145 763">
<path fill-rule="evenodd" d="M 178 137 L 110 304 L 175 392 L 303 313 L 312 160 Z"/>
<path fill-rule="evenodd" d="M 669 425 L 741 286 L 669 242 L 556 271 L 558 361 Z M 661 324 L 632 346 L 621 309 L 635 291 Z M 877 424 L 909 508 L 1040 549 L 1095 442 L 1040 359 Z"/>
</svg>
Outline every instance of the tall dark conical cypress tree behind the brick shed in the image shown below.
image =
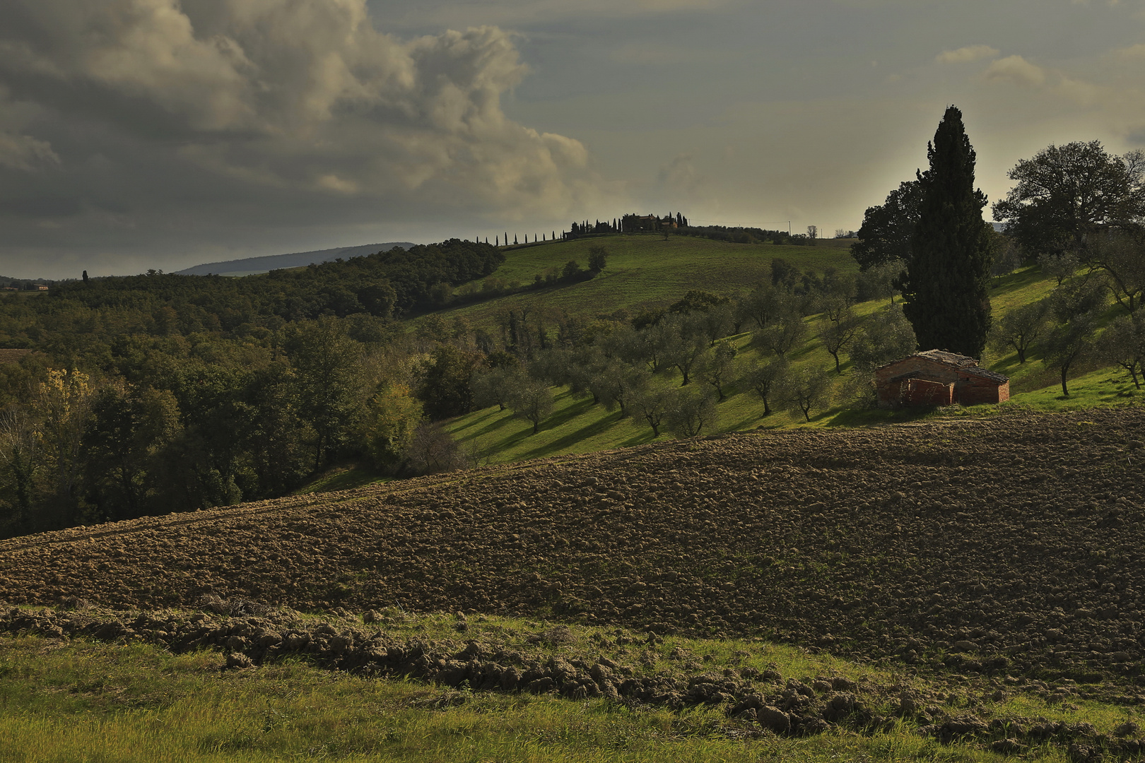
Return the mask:
<svg viewBox="0 0 1145 763">
<path fill-rule="evenodd" d="M 986 194 L 974 189 L 974 149 L 954 106 L 926 144 L 926 157 L 910 261 L 898 283 L 906 299 L 902 311 L 921 348 L 979 358 L 990 328 Z"/>
</svg>

